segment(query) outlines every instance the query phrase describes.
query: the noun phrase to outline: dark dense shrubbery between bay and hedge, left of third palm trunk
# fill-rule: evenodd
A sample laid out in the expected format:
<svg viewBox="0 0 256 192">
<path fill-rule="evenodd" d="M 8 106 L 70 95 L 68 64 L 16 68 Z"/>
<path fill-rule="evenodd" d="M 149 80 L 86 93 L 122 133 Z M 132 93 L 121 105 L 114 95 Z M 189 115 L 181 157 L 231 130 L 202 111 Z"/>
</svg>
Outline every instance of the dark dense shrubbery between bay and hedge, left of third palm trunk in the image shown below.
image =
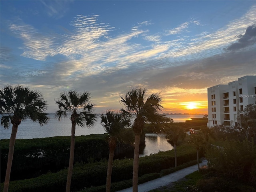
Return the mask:
<svg viewBox="0 0 256 192">
<path fill-rule="evenodd" d="M 9 140 L 1 140 L 1 179 L 4 179 Z M 14 148 L 11 180 L 31 178 L 68 166 L 70 136 L 17 139 Z M 104 135 L 76 136 L 75 162 L 101 160 L 108 156 Z"/>
</svg>

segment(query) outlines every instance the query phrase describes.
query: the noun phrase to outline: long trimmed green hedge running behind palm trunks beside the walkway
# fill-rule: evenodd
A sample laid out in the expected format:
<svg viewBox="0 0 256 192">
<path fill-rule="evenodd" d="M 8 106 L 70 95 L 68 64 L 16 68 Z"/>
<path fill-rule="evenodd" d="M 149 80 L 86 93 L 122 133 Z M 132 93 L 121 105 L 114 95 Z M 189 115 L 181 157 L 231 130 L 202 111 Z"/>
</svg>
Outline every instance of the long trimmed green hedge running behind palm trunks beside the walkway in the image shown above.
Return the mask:
<svg viewBox="0 0 256 192">
<path fill-rule="evenodd" d="M 178 164 L 196 160 L 196 149 L 192 145 L 178 146 Z M 174 166 L 174 151 L 142 157 L 139 160 L 139 176 L 161 172 Z M 114 160 L 112 182 L 132 179 L 133 159 Z M 72 174 L 71 190 L 83 190 L 91 186 L 106 184 L 107 161 L 75 164 Z M 10 182 L 9 192 L 64 191 L 67 170 L 48 173 L 37 178 Z M 2 190 L 3 184 L 1 184 Z"/>
</svg>

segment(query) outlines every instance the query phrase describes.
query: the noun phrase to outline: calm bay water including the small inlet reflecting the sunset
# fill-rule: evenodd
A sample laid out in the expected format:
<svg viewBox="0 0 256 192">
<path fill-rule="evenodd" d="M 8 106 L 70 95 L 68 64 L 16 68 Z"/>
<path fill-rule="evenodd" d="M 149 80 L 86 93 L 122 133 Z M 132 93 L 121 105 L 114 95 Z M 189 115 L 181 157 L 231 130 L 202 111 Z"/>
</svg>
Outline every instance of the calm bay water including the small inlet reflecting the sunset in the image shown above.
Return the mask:
<svg viewBox="0 0 256 192">
<path fill-rule="evenodd" d="M 62 118 L 60 121 L 54 118 L 54 114 L 49 114 L 50 121 L 45 126 L 40 126 L 37 122 L 24 120 L 18 127 L 17 139 L 32 139 L 32 138 L 45 138 L 54 136 L 70 136 L 71 135 L 71 121 L 69 118 Z M 199 115 L 173 115 L 171 117 L 174 122 L 185 122 L 191 118 L 200 118 Z M 12 125 L 8 130 L 0 127 L 0 139 L 9 139 L 12 131 Z M 100 125 L 100 118 L 92 128 L 76 126 L 76 136 L 90 135 L 90 134 L 104 134 L 105 130 Z M 146 147 L 140 156 L 146 156 L 159 151 L 172 150 L 170 145 L 163 135 L 146 134 Z"/>
</svg>

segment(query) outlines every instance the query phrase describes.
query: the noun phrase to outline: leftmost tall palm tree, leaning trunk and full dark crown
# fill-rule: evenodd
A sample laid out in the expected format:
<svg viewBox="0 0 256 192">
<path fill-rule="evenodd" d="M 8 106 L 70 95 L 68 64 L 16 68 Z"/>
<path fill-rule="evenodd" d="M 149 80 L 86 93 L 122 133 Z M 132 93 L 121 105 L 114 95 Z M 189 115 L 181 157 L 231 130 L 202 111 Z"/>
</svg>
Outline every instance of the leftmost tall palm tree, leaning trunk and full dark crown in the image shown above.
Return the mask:
<svg viewBox="0 0 256 192">
<path fill-rule="evenodd" d="M 30 90 L 28 87 L 6 85 L 1 91 L 1 125 L 8 129 L 12 124 L 10 137 L 6 176 L 4 180 L 4 192 L 8 191 L 10 172 L 14 154 L 14 144 L 18 126 L 26 118 L 38 122 L 41 126 L 47 124 L 49 118 L 44 111 L 47 108 L 46 101 L 38 91 Z"/>
</svg>

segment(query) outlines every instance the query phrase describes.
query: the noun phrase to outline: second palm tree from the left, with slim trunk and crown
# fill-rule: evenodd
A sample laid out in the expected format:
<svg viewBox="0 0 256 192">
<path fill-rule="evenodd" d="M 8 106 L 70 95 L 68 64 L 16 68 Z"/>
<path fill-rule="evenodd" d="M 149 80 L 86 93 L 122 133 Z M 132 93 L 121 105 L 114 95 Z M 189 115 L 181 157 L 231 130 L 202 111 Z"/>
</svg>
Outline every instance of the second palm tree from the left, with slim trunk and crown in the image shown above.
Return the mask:
<svg viewBox="0 0 256 192">
<path fill-rule="evenodd" d="M 67 112 L 71 113 L 71 141 L 70 141 L 70 157 L 68 165 L 68 177 L 66 184 L 66 192 L 70 191 L 71 177 L 74 163 L 74 148 L 75 148 L 75 131 L 76 124 L 78 126 L 91 127 L 96 121 L 96 115 L 92 114 L 94 110 L 94 104 L 90 101 L 89 92 L 78 93 L 76 90 L 70 90 L 69 92 L 62 92 L 60 98 L 55 100 L 59 110 L 57 110 L 55 116 L 60 120 L 62 117 L 67 116 Z"/>
</svg>

